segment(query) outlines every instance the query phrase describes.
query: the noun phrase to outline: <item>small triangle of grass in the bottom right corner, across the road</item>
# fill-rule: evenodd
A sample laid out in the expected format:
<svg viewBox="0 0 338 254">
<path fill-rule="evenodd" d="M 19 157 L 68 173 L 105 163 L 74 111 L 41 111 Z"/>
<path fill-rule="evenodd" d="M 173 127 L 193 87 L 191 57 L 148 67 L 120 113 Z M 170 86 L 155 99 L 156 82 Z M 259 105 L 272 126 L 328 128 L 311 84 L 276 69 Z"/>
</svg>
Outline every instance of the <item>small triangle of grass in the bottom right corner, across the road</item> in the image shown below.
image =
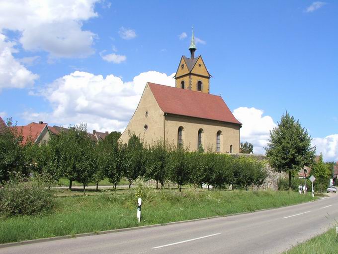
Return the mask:
<svg viewBox="0 0 338 254">
<path fill-rule="evenodd" d="M 297 245 L 284 254 L 309 254 L 309 253 L 338 253 L 338 234 L 336 229 L 331 229 L 322 235 L 314 237 L 305 243 Z"/>
</svg>

